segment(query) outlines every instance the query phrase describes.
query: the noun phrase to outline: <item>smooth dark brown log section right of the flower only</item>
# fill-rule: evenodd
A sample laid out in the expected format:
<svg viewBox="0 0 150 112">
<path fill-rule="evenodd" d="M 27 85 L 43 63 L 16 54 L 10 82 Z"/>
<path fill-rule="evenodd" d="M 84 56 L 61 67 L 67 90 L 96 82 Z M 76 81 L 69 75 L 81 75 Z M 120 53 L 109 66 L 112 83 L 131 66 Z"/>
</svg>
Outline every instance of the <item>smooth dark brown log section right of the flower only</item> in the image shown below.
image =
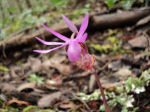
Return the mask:
<svg viewBox="0 0 150 112">
<path fill-rule="evenodd" d="M 150 15 L 150 8 L 136 9 L 134 11 L 122 11 L 113 14 L 97 15 L 91 18 L 91 27 L 114 28 L 133 25 L 143 17 Z"/>
</svg>

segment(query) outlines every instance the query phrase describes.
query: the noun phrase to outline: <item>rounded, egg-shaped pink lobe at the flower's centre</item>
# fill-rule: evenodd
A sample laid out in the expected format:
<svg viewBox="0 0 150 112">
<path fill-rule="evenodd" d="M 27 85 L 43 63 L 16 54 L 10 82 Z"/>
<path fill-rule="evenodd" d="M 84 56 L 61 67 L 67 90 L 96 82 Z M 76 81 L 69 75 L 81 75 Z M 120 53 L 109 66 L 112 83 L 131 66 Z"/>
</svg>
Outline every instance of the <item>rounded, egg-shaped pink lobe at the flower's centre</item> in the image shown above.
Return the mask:
<svg viewBox="0 0 150 112">
<path fill-rule="evenodd" d="M 71 62 L 74 62 L 79 59 L 81 53 L 81 46 L 77 42 L 70 42 L 68 49 L 67 49 L 67 55 Z"/>
</svg>

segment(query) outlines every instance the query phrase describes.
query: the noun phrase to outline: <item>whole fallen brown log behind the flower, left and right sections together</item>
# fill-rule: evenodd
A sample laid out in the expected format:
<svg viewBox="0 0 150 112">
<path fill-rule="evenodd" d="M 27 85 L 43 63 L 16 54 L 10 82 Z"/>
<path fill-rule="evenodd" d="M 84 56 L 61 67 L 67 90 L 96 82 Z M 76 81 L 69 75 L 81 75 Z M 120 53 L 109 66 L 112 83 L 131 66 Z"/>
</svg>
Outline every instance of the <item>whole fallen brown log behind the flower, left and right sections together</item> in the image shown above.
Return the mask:
<svg viewBox="0 0 150 112">
<path fill-rule="evenodd" d="M 90 16 L 90 22 L 88 26 L 88 31 L 96 29 L 114 28 L 121 27 L 125 25 L 133 25 L 137 23 L 140 19 L 150 15 L 150 8 L 136 9 L 134 11 L 122 11 L 120 13 L 104 14 L 104 15 L 94 15 Z M 74 21 L 74 23 L 79 27 L 82 19 Z M 49 26 L 51 29 L 59 32 L 61 34 L 71 33 L 65 23 L 57 24 L 55 26 Z M 28 29 L 29 30 L 29 29 Z M 15 37 L 9 37 L 0 43 L 0 57 L 3 55 L 3 51 L 11 51 L 21 48 L 23 45 L 31 45 L 37 43 L 34 38 L 39 36 L 41 38 L 52 39 L 53 35 L 49 33 L 44 28 L 40 28 L 34 33 L 27 34 L 22 32 Z"/>
</svg>

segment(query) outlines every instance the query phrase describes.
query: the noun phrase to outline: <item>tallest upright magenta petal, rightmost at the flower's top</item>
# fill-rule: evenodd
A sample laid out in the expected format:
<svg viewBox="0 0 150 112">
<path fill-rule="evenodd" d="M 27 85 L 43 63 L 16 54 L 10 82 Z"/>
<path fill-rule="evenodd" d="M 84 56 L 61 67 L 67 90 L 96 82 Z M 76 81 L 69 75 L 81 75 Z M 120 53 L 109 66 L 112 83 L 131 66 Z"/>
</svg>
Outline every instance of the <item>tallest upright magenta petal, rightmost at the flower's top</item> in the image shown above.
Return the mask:
<svg viewBox="0 0 150 112">
<path fill-rule="evenodd" d="M 88 26 L 88 13 L 85 14 L 85 17 L 84 17 L 84 20 L 82 21 L 82 24 L 81 24 L 81 27 L 80 27 L 80 30 L 79 30 L 79 33 L 77 35 L 77 39 L 81 39 L 82 38 L 82 35 L 84 34 L 87 26 Z"/>
</svg>

